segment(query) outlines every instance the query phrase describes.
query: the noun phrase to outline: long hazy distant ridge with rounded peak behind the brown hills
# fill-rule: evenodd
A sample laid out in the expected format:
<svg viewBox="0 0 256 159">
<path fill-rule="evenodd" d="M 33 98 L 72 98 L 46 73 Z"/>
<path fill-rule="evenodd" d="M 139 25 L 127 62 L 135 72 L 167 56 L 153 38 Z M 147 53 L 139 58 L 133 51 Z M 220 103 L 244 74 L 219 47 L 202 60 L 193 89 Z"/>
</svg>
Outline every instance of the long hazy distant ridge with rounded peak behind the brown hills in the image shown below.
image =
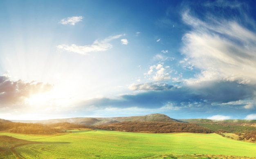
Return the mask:
<svg viewBox="0 0 256 159">
<path fill-rule="evenodd" d="M 119 123 L 122 121 L 158 121 L 158 122 L 182 122 L 176 119 L 172 119 L 164 114 L 149 114 L 145 116 L 128 116 L 128 117 L 80 117 L 80 118 L 67 118 L 67 119 L 49 119 L 49 120 L 38 120 L 38 121 L 22 121 L 22 120 L 12 120 L 13 122 L 22 122 L 22 123 L 73 123 L 81 125 L 107 125 L 112 123 Z"/>
</svg>

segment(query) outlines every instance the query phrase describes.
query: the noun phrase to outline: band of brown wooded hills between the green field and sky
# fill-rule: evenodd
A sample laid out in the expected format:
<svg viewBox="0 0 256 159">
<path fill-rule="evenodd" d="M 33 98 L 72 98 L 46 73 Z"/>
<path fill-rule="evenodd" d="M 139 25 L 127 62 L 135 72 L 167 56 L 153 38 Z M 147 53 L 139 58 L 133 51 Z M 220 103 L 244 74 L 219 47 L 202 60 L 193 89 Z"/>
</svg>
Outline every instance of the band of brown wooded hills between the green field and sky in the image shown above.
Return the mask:
<svg viewBox="0 0 256 159">
<path fill-rule="evenodd" d="M 20 122 L 20 123 L 16 123 Z M 28 125 L 26 125 L 27 123 Z M 30 124 L 29 124 L 30 123 Z M 31 123 L 34 123 L 31 124 Z M 37 123 L 37 124 L 36 124 Z M 17 125 L 18 124 L 18 125 Z M 39 124 L 39 125 L 38 125 Z M 76 128 L 116 130 L 127 132 L 212 133 L 245 141 L 256 141 L 256 120 L 172 119 L 164 114 L 148 114 L 128 117 L 78 117 L 41 121 L 17 121 L 0 119 L 2 131 L 17 133 L 55 133 Z M 41 130 L 44 128 L 43 130 Z M 47 128 L 47 129 L 46 129 Z M 230 133 L 234 134 L 230 136 Z"/>
</svg>

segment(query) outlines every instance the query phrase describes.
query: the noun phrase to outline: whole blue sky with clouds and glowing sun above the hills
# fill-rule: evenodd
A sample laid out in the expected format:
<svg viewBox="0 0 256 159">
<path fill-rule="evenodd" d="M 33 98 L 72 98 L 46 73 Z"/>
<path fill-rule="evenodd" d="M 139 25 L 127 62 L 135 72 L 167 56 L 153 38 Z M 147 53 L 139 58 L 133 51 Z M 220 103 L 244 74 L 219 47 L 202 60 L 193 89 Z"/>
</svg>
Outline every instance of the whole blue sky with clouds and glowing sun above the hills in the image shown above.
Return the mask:
<svg viewBox="0 0 256 159">
<path fill-rule="evenodd" d="M 256 119 L 254 0 L 1 0 L 0 118 Z"/>
</svg>

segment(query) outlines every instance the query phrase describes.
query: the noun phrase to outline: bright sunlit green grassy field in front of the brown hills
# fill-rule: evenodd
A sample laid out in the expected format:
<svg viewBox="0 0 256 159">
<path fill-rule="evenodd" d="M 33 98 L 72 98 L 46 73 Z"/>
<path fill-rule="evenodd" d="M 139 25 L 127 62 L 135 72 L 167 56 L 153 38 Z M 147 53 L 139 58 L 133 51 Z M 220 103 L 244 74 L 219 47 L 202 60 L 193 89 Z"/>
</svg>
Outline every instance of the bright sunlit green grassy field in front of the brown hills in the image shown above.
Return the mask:
<svg viewBox="0 0 256 159">
<path fill-rule="evenodd" d="M 18 156 L 26 159 L 256 157 L 255 143 L 227 139 L 218 134 L 72 130 L 72 133 L 64 135 L 0 135 L 41 142 L 15 148 Z M 10 155 L 2 158 L 15 157 Z"/>
</svg>

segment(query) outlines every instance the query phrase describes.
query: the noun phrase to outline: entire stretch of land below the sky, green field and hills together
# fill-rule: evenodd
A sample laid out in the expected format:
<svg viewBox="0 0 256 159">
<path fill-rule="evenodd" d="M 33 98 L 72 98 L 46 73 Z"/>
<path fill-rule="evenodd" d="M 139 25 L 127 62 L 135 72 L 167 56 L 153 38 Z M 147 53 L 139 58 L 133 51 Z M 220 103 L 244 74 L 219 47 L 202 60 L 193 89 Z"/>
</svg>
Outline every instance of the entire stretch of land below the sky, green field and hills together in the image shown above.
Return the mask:
<svg viewBox="0 0 256 159">
<path fill-rule="evenodd" d="M 255 123 L 164 114 L 33 123 L 2 119 L 0 159 L 254 159 Z"/>
</svg>

